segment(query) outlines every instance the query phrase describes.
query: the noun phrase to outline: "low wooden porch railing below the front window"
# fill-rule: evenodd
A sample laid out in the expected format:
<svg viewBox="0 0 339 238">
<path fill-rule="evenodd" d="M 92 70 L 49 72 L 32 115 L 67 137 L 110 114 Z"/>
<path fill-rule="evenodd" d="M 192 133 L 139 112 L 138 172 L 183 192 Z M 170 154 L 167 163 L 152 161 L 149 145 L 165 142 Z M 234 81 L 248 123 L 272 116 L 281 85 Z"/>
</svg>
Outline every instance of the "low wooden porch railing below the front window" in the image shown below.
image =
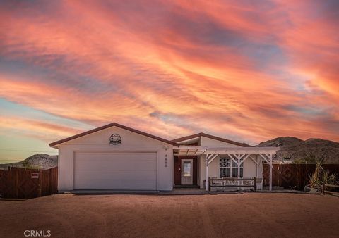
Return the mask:
<svg viewBox="0 0 339 238">
<path fill-rule="evenodd" d="M 225 177 L 225 178 L 208 178 L 208 191 L 211 189 L 219 189 L 219 190 L 226 190 L 230 188 L 253 188 L 254 192 L 256 192 L 256 177 L 250 178 L 237 178 L 237 177 Z"/>
</svg>

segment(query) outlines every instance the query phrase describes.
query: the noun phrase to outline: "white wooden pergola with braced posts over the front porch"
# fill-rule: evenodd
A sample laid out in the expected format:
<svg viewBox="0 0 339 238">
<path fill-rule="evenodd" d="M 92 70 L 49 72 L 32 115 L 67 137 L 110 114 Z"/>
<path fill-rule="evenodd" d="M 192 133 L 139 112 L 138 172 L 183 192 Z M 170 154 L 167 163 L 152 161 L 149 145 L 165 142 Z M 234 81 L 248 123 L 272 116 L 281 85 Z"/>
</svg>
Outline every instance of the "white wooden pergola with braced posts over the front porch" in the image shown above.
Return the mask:
<svg viewBox="0 0 339 238">
<path fill-rule="evenodd" d="M 279 147 L 208 147 L 208 146 L 174 146 L 174 156 L 201 156 L 206 155 L 206 181 L 208 181 L 208 165 L 220 154 L 227 154 L 232 161 L 237 164 L 238 178 L 240 176 L 240 166 L 246 159 L 251 159 L 256 163 L 256 173 L 258 175 L 259 159 L 263 158 L 270 165 L 270 191 L 272 191 L 272 168 L 273 154 L 279 151 Z M 258 155 L 254 156 L 253 155 Z M 208 183 L 206 182 L 206 191 Z"/>
</svg>

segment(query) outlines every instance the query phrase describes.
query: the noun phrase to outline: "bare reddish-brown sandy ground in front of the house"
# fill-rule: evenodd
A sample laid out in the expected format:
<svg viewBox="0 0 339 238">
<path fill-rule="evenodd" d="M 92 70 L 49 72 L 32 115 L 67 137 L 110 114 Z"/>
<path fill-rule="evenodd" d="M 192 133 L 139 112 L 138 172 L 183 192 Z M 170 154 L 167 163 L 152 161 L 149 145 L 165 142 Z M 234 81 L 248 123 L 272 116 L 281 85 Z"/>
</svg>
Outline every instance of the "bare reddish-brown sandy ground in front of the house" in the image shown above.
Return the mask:
<svg viewBox="0 0 339 238">
<path fill-rule="evenodd" d="M 0 201 L 0 237 L 339 237 L 339 198 L 57 194 Z"/>
</svg>

